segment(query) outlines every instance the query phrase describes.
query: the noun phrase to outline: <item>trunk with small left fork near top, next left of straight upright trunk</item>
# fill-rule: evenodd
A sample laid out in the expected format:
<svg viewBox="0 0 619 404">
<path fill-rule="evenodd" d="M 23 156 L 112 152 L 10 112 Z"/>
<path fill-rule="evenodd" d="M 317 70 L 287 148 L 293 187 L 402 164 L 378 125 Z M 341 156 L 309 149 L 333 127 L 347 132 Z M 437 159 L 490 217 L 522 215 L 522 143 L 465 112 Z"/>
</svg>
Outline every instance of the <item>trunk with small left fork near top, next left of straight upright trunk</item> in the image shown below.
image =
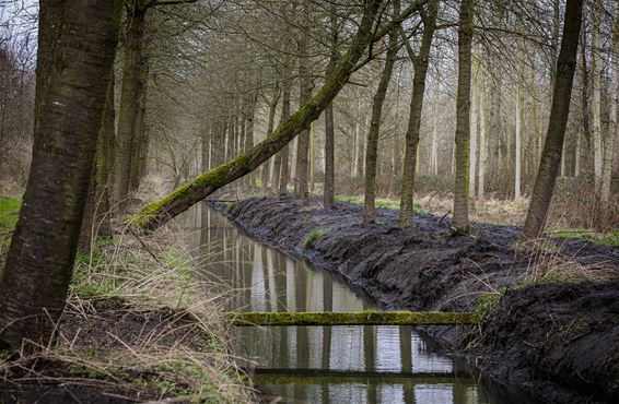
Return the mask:
<svg viewBox="0 0 619 404">
<path fill-rule="evenodd" d="M 410 97 L 410 111 L 408 127 L 406 131 L 406 145 L 404 156 L 402 185 L 400 193 L 399 226 L 408 227 L 412 225 L 414 212 L 414 176 L 419 163 L 419 129 L 421 127 L 421 111 L 423 109 L 423 96 L 425 94 L 425 75 L 430 61 L 430 49 L 432 38 L 436 28 L 436 15 L 439 12 L 439 1 L 433 0 L 428 3 L 428 13 L 423 19 L 423 36 L 419 56 L 416 56 L 409 44 L 406 44 L 409 58 L 414 66 L 412 79 L 412 96 Z M 404 34 L 404 31 L 400 32 Z M 406 35 L 401 35 L 407 40 Z"/>
</svg>

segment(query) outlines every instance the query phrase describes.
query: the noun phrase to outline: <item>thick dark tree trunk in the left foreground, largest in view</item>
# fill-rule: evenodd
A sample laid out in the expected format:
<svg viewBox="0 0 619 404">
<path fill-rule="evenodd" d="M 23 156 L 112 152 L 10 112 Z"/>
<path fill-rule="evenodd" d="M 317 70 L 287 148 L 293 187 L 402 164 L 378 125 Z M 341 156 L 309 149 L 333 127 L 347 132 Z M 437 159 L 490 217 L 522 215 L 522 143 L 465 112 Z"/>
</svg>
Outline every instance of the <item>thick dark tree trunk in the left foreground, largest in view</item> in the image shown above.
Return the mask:
<svg viewBox="0 0 619 404">
<path fill-rule="evenodd" d="M 0 277 L 0 348 L 19 349 L 25 340 L 34 342 L 26 350 L 47 346 L 65 307 L 121 5 L 39 2 L 39 56 L 55 46 L 45 56 L 28 183 Z M 60 13 L 60 24 L 46 21 L 50 10 Z"/>
</svg>

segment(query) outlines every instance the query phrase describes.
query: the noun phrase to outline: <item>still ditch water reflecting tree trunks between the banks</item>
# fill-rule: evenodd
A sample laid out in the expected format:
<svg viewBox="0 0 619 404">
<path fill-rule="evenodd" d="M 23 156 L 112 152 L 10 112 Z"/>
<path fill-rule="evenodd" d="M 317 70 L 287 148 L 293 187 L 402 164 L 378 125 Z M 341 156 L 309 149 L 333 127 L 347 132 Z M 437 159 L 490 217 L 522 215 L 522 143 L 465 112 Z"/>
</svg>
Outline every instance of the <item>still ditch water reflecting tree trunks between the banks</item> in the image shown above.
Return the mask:
<svg viewBox="0 0 619 404">
<path fill-rule="evenodd" d="M 206 205 L 185 216 L 201 276 L 233 288 L 230 310 L 358 311 L 376 305 L 337 275 L 256 242 Z M 479 381 L 411 326 L 234 330 L 241 366 L 280 403 L 532 402 Z"/>
</svg>

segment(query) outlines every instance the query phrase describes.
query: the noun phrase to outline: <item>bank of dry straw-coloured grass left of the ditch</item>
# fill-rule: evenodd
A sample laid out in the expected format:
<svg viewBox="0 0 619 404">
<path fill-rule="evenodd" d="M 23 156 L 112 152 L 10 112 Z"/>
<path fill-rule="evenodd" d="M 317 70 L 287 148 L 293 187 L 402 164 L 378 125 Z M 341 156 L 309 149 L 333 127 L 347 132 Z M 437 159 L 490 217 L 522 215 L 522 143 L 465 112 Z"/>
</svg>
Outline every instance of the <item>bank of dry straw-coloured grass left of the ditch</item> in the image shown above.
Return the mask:
<svg viewBox="0 0 619 404">
<path fill-rule="evenodd" d="M 19 200 L 0 207 L 2 269 Z M 254 401 L 230 355 L 231 325 L 179 237 L 118 234 L 79 253 L 56 343 L 0 358 L 0 403 Z"/>
</svg>

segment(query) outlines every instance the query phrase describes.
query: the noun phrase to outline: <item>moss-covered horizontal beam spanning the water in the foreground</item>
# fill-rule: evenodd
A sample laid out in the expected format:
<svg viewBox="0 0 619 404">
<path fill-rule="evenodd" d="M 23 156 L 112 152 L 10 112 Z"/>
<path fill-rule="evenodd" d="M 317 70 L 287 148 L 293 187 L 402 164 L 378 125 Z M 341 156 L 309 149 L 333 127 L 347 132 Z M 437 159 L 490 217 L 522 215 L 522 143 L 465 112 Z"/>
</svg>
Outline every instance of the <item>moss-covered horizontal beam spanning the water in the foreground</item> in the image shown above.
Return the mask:
<svg viewBox="0 0 619 404">
<path fill-rule="evenodd" d="M 252 325 L 463 325 L 476 323 L 470 312 L 358 311 L 358 312 L 226 312 L 237 326 Z"/>
</svg>

